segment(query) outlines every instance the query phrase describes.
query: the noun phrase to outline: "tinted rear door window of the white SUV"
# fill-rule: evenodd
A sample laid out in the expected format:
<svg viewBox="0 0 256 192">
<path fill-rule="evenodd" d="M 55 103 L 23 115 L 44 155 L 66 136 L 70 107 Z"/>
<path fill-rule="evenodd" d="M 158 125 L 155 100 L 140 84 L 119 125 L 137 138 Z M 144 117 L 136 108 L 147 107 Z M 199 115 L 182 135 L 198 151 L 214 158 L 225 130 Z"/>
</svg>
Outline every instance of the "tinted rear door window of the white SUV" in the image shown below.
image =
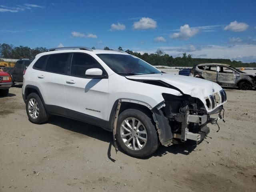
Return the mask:
<svg viewBox="0 0 256 192">
<path fill-rule="evenodd" d="M 48 58 L 45 70 L 47 72 L 66 74 L 69 54 L 53 54 Z"/>
</svg>

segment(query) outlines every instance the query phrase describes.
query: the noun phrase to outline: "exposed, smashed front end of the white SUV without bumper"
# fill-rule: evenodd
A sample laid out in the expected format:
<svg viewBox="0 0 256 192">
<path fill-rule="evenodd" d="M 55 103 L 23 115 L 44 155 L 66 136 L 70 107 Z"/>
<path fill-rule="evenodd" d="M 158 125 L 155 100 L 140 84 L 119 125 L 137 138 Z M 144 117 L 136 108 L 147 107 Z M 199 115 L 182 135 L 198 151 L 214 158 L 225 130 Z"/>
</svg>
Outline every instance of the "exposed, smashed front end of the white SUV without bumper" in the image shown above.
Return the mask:
<svg viewBox="0 0 256 192">
<path fill-rule="evenodd" d="M 218 99 L 216 101 L 215 96 L 210 99 L 211 108 L 214 110 L 207 112 L 199 98 L 186 94 L 182 96 L 162 94 L 164 102 L 152 109 L 161 144 L 176 144 L 186 140 L 194 140 L 196 144 L 200 143 L 210 132 L 207 124 L 218 125 L 218 119 L 222 118 L 221 112 L 223 111 L 224 114 L 223 105 L 220 103 L 226 101 L 224 90 L 220 92 L 220 95 L 221 101 Z M 222 95 L 225 95 L 225 98 Z M 219 114 L 218 118 L 210 117 L 211 114 L 216 113 Z"/>
</svg>

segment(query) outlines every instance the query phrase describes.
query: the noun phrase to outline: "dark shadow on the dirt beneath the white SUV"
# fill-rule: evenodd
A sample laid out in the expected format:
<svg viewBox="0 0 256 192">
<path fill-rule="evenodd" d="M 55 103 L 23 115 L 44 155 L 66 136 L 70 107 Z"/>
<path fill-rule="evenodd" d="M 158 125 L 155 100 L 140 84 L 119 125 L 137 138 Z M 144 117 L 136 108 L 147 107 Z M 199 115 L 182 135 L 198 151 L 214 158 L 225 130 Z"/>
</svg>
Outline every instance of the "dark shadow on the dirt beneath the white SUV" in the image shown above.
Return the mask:
<svg viewBox="0 0 256 192">
<path fill-rule="evenodd" d="M 84 134 L 91 138 L 109 143 L 108 151 L 107 151 L 108 158 L 112 162 L 115 162 L 115 160 L 113 158 L 111 158 L 111 153 L 110 153 L 111 148 L 114 147 L 112 132 L 108 132 L 98 126 L 94 126 L 94 125 L 80 122 L 77 120 L 72 120 L 69 118 L 64 118 L 61 116 L 52 116 L 48 123 L 59 126 L 66 130 L 70 130 L 72 132 Z M 170 146 L 161 146 L 160 145 L 160 147 L 154 154 L 152 154 L 151 156 L 149 156 L 147 158 L 143 158 L 143 159 L 148 159 L 148 158 L 151 158 L 152 156 L 160 156 L 161 157 L 168 153 L 188 155 L 188 154 L 190 154 L 190 152 L 192 152 L 194 150 L 194 148 L 196 148 L 196 145 L 191 145 L 188 142 L 185 142 L 182 144 L 173 144 Z M 122 149 L 119 148 L 119 150 L 120 150 L 120 152 L 123 152 Z"/>
</svg>

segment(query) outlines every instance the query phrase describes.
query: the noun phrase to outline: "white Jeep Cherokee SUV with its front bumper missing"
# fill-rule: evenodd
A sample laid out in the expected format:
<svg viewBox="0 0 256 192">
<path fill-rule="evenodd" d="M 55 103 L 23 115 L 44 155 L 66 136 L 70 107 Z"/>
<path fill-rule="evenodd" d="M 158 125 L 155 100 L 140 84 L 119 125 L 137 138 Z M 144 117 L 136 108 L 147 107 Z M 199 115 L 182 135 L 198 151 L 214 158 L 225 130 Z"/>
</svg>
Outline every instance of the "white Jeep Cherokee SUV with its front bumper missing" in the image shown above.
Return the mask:
<svg viewBox="0 0 256 192">
<path fill-rule="evenodd" d="M 24 74 L 22 96 L 31 122 L 60 115 L 113 132 L 114 144 L 142 158 L 159 144 L 197 143 L 226 102 L 216 83 L 164 73 L 122 51 L 52 48 Z M 210 118 L 219 113 L 219 118 Z"/>
</svg>

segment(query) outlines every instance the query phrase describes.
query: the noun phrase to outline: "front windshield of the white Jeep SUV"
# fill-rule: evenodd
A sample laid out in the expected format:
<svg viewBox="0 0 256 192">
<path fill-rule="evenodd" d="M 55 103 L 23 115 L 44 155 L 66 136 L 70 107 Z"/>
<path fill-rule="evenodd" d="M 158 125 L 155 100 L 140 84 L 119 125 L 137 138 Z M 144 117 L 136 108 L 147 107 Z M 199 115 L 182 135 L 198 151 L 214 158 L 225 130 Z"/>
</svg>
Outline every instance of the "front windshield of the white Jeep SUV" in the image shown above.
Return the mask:
<svg viewBox="0 0 256 192">
<path fill-rule="evenodd" d="M 143 60 L 123 54 L 97 54 L 115 73 L 120 75 L 141 75 L 162 73 Z"/>
</svg>

